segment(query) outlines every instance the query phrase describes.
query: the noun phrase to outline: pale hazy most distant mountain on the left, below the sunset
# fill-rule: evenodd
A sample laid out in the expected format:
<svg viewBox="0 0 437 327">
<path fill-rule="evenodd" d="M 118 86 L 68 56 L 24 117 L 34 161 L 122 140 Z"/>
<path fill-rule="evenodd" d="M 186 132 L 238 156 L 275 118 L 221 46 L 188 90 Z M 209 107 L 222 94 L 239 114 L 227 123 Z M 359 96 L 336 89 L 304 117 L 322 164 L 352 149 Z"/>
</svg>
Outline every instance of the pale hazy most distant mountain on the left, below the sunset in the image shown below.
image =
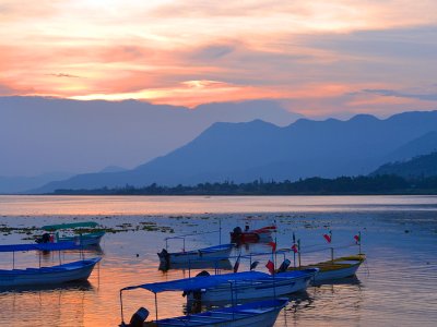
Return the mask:
<svg viewBox="0 0 437 327">
<path fill-rule="evenodd" d="M 132 168 L 186 144 L 217 121 L 262 119 L 287 125 L 300 117 L 271 100 L 188 109 L 137 100 L 0 97 L 0 174 Z"/>
</svg>

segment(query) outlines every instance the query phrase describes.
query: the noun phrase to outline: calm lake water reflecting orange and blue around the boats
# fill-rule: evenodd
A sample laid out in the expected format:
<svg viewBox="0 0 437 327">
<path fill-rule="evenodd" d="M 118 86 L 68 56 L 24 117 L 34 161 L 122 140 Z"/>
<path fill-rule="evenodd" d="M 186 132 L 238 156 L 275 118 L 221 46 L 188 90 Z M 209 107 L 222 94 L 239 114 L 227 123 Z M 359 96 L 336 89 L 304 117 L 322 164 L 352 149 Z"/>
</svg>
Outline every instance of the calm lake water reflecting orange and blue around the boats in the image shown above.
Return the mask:
<svg viewBox="0 0 437 327">
<path fill-rule="evenodd" d="M 334 245 L 342 247 L 338 255 L 356 253 L 356 246 L 347 245 L 362 231 L 368 261 L 357 279 L 311 287 L 295 295 L 275 326 L 435 326 L 437 322 L 435 196 L 0 196 L 0 225 L 40 227 L 78 220 L 133 231 L 108 233 L 101 251 L 86 254 L 104 257 L 86 283 L 0 292 L 0 326 L 116 326 L 120 322 L 119 289 L 188 277 L 188 270 L 157 269 L 156 252 L 164 239 L 174 234 L 142 230 L 144 222 L 155 222 L 157 229 L 173 228 L 175 234 L 215 231 L 221 222 L 222 241 L 227 242 L 228 231 L 237 225 L 262 227 L 275 221 L 279 247 L 290 246 L 295 232 L 302 240 L 304 264 L 329 258 L 322 239 L 328 229 L 333 231 Z M 2 233 L 0 244 L 31 242 L 23 240 L 28 237 Z M 186 247 L 214 245 L 218 239 L 218 233 L 199 234 L 187 239 Z M 170 246 L 180 250 L 182 244 L 173 242 Z M 268 247 L 256 244 L 243 251 Z M 15 258 L 22 267 L 38 265 L 35 253 L 16 254 Z M 62 261 L 69 259 L 78 259 L 78 254 L 64 253 Z M 268 259 L 260 258 L 261 270 Z M 59 257 L 48 255 L 43 261 L 52 265 Z M 0 268 L 11 264 L 12 255 L 0 253 Z M 247 265 L 241 262 L 240 269 Z M 128 318 L 140 305 L 154 310 L 147 291 L 126 293 L 125 302 Z M 160 294 L 158 303 L 161 317 L 185 310 L 180 293 Z"/>
</svg>

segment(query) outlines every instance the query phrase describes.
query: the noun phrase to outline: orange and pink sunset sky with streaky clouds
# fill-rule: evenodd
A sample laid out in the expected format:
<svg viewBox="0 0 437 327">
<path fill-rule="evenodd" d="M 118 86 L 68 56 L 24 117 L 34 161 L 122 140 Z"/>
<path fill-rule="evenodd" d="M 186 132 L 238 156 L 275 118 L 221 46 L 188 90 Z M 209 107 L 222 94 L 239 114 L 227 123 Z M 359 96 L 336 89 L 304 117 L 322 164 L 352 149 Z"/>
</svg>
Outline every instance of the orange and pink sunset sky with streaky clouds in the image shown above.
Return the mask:
<svg viewBox="0 0 437 327">
<path fill-rule="evenodd" d="M 0 0 L 0 96 L 437 109 L 436 0 Z"/>
</svg>

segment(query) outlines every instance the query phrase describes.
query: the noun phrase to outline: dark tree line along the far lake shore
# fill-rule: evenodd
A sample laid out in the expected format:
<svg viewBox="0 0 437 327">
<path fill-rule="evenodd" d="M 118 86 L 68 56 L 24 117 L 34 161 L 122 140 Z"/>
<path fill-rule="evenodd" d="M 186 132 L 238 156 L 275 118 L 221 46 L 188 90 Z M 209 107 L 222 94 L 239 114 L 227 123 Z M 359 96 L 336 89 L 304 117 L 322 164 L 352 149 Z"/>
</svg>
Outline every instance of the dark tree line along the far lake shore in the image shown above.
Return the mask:
<svg viewBox="0 0 437 327">
<path fill-rule="evenodd" d="M 361 195 L 361 194 L 437 194 L 437 177 L 406 180 L 394 174 L 308 178 L 292 182 L 264 181 L 248 183 L 233 181 L 199 183 L 197 185 L 164 186 L 156 183 L 138 187 L 102 187 L 94 190 L 56 190 L 63 195 Z"/>
</svg>

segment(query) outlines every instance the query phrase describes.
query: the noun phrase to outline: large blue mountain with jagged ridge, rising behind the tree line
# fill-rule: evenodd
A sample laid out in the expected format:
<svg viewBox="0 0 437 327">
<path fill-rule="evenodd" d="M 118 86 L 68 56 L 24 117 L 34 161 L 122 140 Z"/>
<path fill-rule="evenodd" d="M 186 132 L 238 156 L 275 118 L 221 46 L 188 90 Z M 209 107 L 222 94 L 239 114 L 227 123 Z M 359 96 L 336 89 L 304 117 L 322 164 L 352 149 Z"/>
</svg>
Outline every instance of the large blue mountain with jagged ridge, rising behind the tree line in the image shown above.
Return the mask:
<svg viewBox="0 0 437 327">
<path fill-rule="evenodd" d="M 39 192 L 368 174 L 389 154 L 436 129 L 437 111 L 386 120 L 366 114 L 349 121 L 300 119 L 285 128 L 260 120 L 215 123 L 187 145 L 133 170 L 76 175 Z"/>
</svg>

